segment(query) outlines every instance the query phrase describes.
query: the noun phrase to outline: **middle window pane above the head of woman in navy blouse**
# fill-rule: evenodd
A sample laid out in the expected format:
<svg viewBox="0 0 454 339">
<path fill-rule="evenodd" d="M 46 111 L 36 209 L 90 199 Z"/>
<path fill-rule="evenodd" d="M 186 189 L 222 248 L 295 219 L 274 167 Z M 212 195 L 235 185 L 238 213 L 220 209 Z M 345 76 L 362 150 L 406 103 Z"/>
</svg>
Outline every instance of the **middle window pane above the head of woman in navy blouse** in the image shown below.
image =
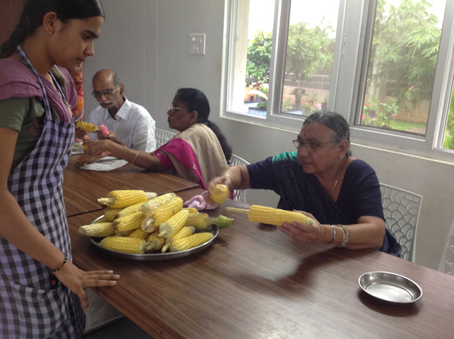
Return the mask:
<svg viewBox="0 0 454 339">
<path fill-rule="evenodd" d="M 328 107 L 339 0 L 292 1 L 282 114 Z"/>
</svg>

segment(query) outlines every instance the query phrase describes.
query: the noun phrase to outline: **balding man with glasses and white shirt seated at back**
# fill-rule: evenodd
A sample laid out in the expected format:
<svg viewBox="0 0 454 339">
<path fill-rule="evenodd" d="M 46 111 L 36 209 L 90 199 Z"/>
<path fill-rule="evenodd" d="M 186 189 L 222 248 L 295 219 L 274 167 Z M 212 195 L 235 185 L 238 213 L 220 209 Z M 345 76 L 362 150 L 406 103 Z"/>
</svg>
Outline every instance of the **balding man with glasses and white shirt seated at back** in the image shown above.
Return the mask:
<svg viewBox="0 0 454 339">
<path fill-rule="evenodd" d="M 126 99 L 117 73 L 102 69 L 92 83 L 92 94 L 100 107 L 91 112 L 90 123 L 107 126 L 109 134 L 90 133 L 90 139 L 109 139 L 132 150 L 155 150 L 155 121 L 144 107 Z"/>
</svg>

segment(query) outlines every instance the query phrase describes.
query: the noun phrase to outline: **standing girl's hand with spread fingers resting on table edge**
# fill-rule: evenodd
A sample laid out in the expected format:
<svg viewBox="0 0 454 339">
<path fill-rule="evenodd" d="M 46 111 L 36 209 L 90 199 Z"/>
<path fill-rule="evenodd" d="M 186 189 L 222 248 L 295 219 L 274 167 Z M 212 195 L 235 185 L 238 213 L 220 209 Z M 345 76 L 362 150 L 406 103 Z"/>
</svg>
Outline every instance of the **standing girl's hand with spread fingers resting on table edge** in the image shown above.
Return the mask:
<svg viewBox="0 0 454 339">
<path fill-rule="evenodd" d="M 88 297 L 83 290 L 85 287 L 115 286 L 120 278 L 112 270 L 80 270 L 71 261 L 66 262 L 54 275 L 60 283 L 78 295 L 85 311 L 88 311 Z"/>
</svg>

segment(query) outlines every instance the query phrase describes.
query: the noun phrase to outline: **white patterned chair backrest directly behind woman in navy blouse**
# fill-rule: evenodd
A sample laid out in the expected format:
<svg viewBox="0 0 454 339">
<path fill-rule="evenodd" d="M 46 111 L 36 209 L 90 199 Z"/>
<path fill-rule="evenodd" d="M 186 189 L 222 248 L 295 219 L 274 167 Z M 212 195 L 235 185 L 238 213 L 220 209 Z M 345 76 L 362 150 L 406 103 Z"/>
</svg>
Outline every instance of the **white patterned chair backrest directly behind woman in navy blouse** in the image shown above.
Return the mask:
<svg viewBox="0 0 454 339">
<path fill-rule="evenodd" d="M 414 240 L 422 196 L 386 184 L 380 184 L 380 189 L 386 227 L 402 246 L 400 256 L 414 261 Z"/>
</svg>

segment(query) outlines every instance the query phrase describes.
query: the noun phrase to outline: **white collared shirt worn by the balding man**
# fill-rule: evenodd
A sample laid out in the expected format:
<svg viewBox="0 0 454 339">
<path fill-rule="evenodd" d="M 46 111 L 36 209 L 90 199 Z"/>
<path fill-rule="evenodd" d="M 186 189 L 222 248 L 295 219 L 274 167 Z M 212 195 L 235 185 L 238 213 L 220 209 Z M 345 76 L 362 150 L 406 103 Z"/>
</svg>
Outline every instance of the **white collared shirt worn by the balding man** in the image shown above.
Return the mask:
<svg viewBox="0 0 454 339">
<path fill-rule="evenodd" d="M 124 97 L 115 118 L 117 120 L 112 119 L 107 109 L 97 107 L 90 114 L 90 124 L 105 125 L 131 150 L 151 152 L 156 149 L 155 120 L 144 107 Z M 97 133 L 90 133 L 90 139 L 97 140 Z"/>
</svg>

